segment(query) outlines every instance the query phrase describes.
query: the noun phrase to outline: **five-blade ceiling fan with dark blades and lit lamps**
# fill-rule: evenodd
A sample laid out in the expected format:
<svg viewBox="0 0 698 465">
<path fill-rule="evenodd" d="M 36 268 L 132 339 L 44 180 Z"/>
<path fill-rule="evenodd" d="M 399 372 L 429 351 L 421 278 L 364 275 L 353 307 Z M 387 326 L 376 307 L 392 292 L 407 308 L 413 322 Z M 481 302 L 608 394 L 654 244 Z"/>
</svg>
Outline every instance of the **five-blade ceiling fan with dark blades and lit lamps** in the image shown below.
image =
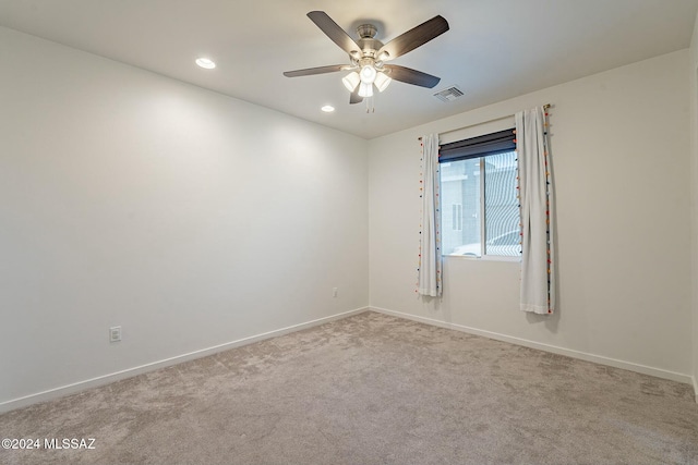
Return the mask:
<svg viewBox="0 0 698 465">
<path fill-rule="evenodd" d="M 287 71 L 284 73 L 287 77 L 350 71 L 341 79 L 345 87 L 351 93 L 349 103 L 359 103 L 364 98 L 372 97 L 374 86 L 378 91 L 385 90 L 392 79 L 428 88 L 434 87 L 441 81 L 440 77 L 421 71 L 397 64 L 386 64 L 387 61 L 412 51 L 448 30 L 448 22 L 441 15 L 411 28 L 385 45 L 374 38 L 377 29 L 372 24 L 357 27 L 359 40 L 354 40 L 324 11 L 311 11 L 308 13 L 308 17 L 332 41 L 349 53 L 350 64 L 332 64 Z"/>
</svg>

